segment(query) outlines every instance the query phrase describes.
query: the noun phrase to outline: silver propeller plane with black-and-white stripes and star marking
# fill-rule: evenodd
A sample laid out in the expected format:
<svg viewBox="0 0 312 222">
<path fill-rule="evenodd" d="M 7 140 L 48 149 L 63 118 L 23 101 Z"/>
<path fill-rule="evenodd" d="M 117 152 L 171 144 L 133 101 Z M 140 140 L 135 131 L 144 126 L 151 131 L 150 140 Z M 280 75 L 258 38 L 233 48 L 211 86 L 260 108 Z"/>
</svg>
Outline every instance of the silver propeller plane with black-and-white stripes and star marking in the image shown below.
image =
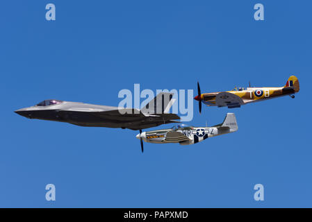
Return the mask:
<svg viewBox="0 0 312 222">
<path fill-rule="evenodd" d="M 235 114 L 228 113 L 223 123 L 212 127 L 193 127 L 184 124 L 173 126 L 166 130 L 153 130 L 136 135 L 140 139 L 141 148 L 143 141 L 154 144 L 179 143 L 181 145 L 190 145 L 202 142 L 208 137 L 215 137 L 227 133 L 233 133 L 238 130 Z"/>
</svg>

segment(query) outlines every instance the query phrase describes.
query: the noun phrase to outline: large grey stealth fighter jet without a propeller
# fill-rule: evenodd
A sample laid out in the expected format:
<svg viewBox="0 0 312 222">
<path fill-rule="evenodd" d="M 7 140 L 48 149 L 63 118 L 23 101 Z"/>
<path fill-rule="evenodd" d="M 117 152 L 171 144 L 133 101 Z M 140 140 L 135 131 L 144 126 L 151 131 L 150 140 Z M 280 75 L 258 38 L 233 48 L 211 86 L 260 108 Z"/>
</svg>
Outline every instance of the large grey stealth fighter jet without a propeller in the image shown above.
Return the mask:
<svg viewBox="0 0 312 222">
<path fill-rule="evenodd" d="M 99 126 L 140 130 L 165 123 L 179 123 L 176 114 L 167 113 L 174 103 L 173 93 L 161 92 L 141 110 L 93 105 L 59 100 L 45 100 L 37 105 L 16 110 L 29 119 L 72 123 L 78 126 Z"/>
</svg>

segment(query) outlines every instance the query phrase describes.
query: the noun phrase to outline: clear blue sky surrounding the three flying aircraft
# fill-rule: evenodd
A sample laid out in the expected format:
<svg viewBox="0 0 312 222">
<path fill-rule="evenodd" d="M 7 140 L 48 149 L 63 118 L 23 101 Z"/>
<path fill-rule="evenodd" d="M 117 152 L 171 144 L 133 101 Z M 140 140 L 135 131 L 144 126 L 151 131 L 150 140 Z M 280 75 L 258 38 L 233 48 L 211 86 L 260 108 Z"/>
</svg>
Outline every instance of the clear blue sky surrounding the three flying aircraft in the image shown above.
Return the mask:
<svg viewBox="0 0 312 222">
<path fill-rule="evenodd" d="M 47 3 L 56 21 L 45 20 Z M 265 21 L 254 20 L 263 3 Z M 2 1 L 0 207 L 312 207 L 309 1 Z M 282 86 L 295 99 L 203 107 L 235 112 L 236 133 L 147 144 L 138 132 L 30 120 L 44 99 L 118 105 L 120 89 Z M 196 94 L 196 92 L 195 92 Z M 167 125 L 171 127 L 171 125 Z M 158 128 L 166 128 L 160 126 Z M 152 128 L 156 129 L 156 128 Z M 56 185 L 56 201 L 45 186 Z M 254 200 L 254 185 L 265 200 Z"/>
</svg>

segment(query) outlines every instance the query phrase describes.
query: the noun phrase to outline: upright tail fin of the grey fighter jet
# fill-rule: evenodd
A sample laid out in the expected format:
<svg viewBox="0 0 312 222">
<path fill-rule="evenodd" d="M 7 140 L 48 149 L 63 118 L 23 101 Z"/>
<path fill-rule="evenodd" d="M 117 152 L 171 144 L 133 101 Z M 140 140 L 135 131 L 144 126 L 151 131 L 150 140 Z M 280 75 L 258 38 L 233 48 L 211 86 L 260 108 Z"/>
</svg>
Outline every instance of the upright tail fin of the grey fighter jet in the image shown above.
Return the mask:
<svg viewBox="0 0 312 222">
<path fill-rule="evenodd" d="M 170 108 L 176 99 L 172 99 L 174 93 L 172 92 L 161 92 L 157 94 L 144 108 L 141 109 L 142 113 L 149 114 L 162 114 L 168 113 Z"/>
</svg>

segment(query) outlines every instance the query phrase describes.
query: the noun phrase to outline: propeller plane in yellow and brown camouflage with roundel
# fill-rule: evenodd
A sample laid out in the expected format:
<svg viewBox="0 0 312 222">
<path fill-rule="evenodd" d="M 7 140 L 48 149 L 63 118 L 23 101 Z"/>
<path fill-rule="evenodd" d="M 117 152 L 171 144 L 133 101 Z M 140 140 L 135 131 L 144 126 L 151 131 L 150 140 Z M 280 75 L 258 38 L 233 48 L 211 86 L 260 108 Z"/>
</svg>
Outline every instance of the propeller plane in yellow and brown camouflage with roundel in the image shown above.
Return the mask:
<svg viewBox="0 0 312 222">
<path fill-rule="evenodd" d="M 299 80 L 296 76 L 290 76 L 284 87 L 239 87 L 227 92 L 210 92 L 202 94 L 200 92 L 199 83 L 197 82 L 198 95 L 195 100 L 199 101 L 199 113 L 202 112 L 202 103 L 208 106 L 228 108 L 240 108 L 240 105 L 263 101 L 266 99 L 277 98 L 280 96 L 290 96 L 295 98 L 293 94 L 299 92 Z"/>
</svg>

